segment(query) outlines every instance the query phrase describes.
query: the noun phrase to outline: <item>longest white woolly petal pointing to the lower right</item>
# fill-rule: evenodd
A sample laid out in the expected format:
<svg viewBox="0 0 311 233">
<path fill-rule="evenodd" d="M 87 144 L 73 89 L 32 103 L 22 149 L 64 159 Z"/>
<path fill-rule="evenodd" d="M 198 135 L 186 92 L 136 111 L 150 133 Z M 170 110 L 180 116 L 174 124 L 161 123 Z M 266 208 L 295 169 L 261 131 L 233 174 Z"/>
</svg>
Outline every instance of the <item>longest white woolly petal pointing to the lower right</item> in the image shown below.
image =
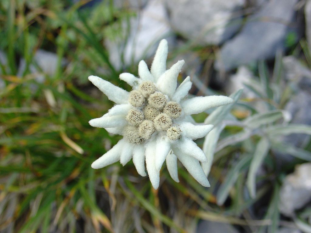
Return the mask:
<svg viewBox="0 0 311 233">
<path fill-rule="evenodd" d="M 199 161 L 197 161 L 192 156 L 188 156 L 187 154 L 183 153 L 182 150 L 179 150 L 178 148 L 174 147 L 173 150 L 177 158 L 180 160 L 183 166 L 187 169 L 190 175 L 193 176 L 195 180 L 197 180 L 197 182 L 199 182 L 201 185 L 205 187 L 211 186 L 207 180 L 207 177 L 205 176 L 205 173 Z"/>
</svg>

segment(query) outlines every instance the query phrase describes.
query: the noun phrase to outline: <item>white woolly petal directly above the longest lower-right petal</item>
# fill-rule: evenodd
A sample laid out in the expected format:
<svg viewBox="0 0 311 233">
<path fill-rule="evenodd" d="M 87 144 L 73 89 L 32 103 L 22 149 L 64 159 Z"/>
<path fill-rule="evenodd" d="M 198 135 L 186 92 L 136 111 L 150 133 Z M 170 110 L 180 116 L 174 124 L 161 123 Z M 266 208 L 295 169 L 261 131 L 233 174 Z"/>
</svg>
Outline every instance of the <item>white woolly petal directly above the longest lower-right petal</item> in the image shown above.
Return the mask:
<svg viewBox="0 0 311 233">
<path fill-rule="evenodd" d="M 204 152 L 193 142 L 192 139 L 182 137 L 174 143 L 174 146 L 178 147 L 183 153 L 192 156 L 201 162 L 207 162 Z"/>
</svg>

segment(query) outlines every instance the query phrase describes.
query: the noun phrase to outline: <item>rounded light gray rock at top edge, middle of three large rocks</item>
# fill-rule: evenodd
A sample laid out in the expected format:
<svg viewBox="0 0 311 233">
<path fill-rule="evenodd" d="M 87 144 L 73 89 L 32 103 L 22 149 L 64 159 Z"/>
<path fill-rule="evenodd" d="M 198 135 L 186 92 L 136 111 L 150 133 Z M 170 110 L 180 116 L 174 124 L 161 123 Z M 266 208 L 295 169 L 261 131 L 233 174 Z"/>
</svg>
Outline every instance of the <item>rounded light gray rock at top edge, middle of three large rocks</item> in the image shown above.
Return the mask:
<svg viewBox="0 0 311 233">
<path fill-rule="evenodd" d="M 172 28 L 197 44 L 220 44 L 241 25 L 244 0 L 165 0 Z"/>
</svg>

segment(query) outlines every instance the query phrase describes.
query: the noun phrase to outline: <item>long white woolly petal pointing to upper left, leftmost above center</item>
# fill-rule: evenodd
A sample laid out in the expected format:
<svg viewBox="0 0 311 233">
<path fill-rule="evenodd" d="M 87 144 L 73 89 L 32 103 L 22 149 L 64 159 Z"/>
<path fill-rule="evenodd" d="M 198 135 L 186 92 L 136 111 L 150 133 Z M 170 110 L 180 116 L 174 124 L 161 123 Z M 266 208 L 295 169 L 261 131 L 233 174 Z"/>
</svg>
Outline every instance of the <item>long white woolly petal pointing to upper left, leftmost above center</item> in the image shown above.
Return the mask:
<svg viewBox="0 0 311 233">
<path fill-rule="evenodd" d="M 128 103 L 129 93 L 97 76 L 89 76 L 89 80 L 114 103 Z"/>
</svg>

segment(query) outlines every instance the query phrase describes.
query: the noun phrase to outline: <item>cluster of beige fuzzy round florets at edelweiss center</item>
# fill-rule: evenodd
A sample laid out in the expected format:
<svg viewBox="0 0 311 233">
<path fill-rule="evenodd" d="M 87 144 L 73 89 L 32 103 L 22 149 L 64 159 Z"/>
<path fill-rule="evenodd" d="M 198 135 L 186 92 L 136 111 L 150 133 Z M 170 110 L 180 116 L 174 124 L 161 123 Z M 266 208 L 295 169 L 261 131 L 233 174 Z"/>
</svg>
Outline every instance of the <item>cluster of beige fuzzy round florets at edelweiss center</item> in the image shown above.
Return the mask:
<svg viewBox="0 0 311 233">
<path fill-rule="evenodd" d="M 124 137 L 130 143 L 138 144 L 155 133 L 166 134 L 170 140 L 180 139 L 181 130 L 173 123 L 181 116 L 182 107 L 169 101 L 153 82 L 143 82 L 137 90 L 132 90 L 128 101 L 133 108 L 125 118 L 129 126 L 124 130 Z"/>
</svg>

